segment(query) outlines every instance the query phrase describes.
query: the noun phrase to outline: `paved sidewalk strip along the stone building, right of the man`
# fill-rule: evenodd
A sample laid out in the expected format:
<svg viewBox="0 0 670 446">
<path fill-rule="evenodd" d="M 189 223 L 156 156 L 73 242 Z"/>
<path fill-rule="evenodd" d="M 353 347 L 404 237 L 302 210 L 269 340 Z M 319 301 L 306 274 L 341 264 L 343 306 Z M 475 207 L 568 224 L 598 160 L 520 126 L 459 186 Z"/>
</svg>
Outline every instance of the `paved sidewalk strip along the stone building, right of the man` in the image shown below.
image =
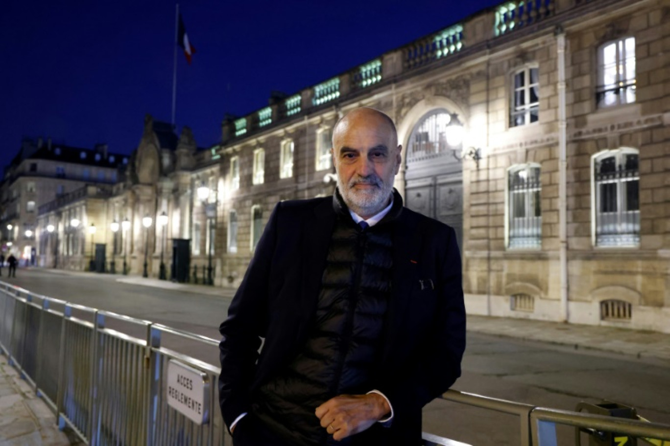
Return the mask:
<svg viewBox="0 0 670 446">
<path fill-rule="evenodd" d="M 608 326 L 468 316 L 468 331 L 670 361 L 670 334 Z"/>
</svg>

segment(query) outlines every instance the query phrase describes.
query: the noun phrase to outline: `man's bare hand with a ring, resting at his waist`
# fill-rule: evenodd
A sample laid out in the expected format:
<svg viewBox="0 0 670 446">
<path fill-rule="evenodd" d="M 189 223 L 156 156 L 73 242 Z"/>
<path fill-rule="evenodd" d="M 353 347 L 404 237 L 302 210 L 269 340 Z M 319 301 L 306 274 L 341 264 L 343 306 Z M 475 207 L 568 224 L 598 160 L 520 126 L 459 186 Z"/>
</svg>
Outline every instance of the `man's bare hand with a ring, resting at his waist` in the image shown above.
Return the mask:
<svg viewBox="0 0 670 446">
<path fill-rule="evenodd" d="M 391 412 L 386 399 L 377 393 L 340 395 L 316 408 L 321 427 L 340 441 L 368 429 Z"/>
</svg>

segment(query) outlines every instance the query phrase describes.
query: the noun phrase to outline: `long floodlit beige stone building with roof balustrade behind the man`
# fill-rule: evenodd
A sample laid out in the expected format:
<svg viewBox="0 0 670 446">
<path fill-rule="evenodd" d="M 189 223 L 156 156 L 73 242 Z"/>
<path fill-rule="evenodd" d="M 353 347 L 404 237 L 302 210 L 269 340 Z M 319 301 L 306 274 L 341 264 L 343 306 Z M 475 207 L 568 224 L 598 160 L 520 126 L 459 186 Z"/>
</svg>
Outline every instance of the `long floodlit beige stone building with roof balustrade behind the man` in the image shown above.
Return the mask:
<svg viewBox="0 0 670 446">
<path fill-rule="evenodd" d="M 512 1 L 274 94 L 206 149 L 147 118 L 107 220 L 131 220 L 131 271 L 147 247 L 159 275 L 165 231 L 237 286 L 278 201 L 332 194 L 332 128 L 371 106 L 405 204 L 458 233 L 468 312 L 670 332 L 669 23 L 662 0 Z"/>
</svg>

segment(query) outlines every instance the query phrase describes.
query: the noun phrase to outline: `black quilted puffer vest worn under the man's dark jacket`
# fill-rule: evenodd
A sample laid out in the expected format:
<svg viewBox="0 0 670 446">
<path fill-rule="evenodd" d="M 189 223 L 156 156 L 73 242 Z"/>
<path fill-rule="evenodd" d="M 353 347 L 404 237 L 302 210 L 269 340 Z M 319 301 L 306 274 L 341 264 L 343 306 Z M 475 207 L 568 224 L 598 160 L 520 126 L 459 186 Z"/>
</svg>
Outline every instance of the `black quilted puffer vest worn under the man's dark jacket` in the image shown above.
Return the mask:
<svg viewBox="0 0 670 446">
<path fill-rule="evenodd" d="M 314 415 L 328 399 L 373 389 L 391 296 L 391 229 L 402 211 L 394 191 L 391 211 L 373 227 L 354 223 L 336 191 L 334 225 L 312 329 L 299 354 L 255 395 L 253 410 L 292 445 L 334 442 Z"/>
</svg>

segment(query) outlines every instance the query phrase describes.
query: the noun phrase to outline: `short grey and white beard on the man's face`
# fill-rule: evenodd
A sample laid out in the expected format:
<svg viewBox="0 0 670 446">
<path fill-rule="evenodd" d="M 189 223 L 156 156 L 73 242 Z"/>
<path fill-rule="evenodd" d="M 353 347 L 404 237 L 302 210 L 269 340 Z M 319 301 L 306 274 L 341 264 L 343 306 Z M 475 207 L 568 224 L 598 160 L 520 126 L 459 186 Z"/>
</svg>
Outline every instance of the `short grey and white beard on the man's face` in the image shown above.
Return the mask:
<svg viewBox="0 0 670 446">
<path fill-rule="evenodd" d="M 374 185 L 375 187 L 366 189 L 356 189 L 358 184 Z M 379 213 L 387 205 L 393 194 L 393 177 L 387 182 L 382 181 L 377 175 L 368 177 L 352 178 L 348 185 L 342 183 L 340 176 L 337 176 L 337 187 L 344 199 L 344 203 L 358 215 L 371 215 Z M 374 214 L 373 214 L 374 215 Z"/>
</svg>

